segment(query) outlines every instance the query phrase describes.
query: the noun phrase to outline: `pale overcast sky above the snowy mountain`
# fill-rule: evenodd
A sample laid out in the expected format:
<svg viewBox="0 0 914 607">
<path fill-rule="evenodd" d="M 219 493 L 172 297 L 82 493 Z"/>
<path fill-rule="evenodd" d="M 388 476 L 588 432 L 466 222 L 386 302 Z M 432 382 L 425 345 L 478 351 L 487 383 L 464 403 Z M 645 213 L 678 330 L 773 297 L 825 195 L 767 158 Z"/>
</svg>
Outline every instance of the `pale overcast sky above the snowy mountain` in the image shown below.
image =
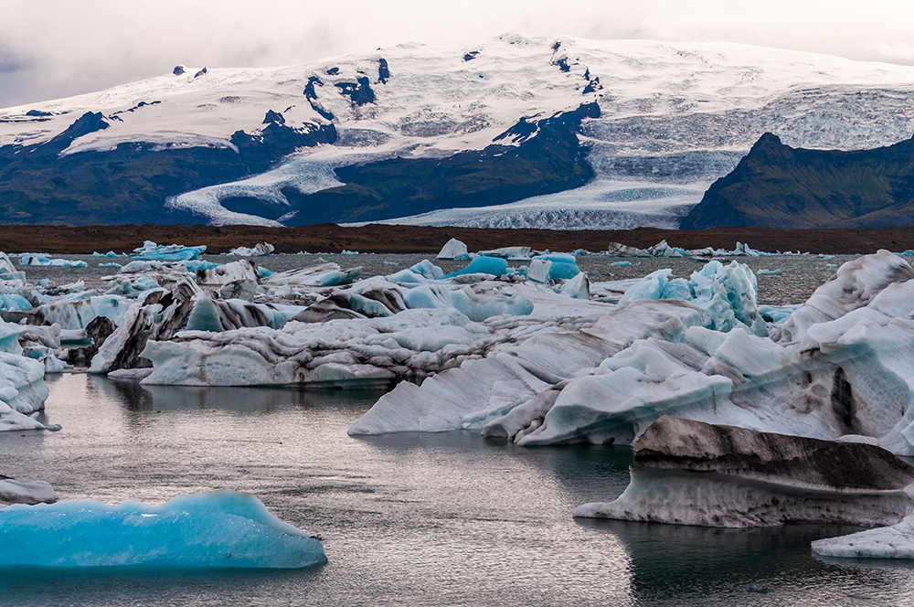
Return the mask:
<svg viewBox="0 0 914 607">
<path fill-rule="evenodd" d="M 167 73 L 505 32 L 731 41 L 914 64 L 909 0 L 0 0 L 0 107 Z"/>
</svg>

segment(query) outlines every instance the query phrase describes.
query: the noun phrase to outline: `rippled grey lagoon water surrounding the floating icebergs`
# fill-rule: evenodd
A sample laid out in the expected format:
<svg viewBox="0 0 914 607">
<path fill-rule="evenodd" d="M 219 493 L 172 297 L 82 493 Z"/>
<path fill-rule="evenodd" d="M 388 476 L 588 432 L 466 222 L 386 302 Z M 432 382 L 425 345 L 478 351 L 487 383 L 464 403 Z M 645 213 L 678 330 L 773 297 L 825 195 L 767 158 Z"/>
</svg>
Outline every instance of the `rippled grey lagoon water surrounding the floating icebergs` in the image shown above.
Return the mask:
<svg viewBox="0 0 914 607">
<path fill-rule="evenodd" d="M 262 262 L 271 268 L 284 257 Z M 405 267 L 416 256 L 370 257 Z M 794 260 L 752 262 L 773 269 Z M 840 261 L 796 261 L 797 281 L 814 288 L 832 271 L 826 262 Z M 650 263 L 677 275 L 700 267 Z M 636 268 L 604 261 L 591 272 L 624 278 L 655 269 Z M 801 285 L 781 288 L 787 301 L 777 299 L 777 281 L 791 276 L 760 277 L 760 291 L 773 289 L 763 292 L 774 293 L 768 303 L 808 295 L 798 294 Z M 379 392 L 146 388 L 84 374 L 48 376 L 48 384 L 45 417 L 63 430 L 0 433 L 0 474 L 47 480 L 65 499 L 110 503 L 249 492 L 323 538 L 329 563 L 5 569 L 2 605 L 914 604 L 914 564 L 811 553 L 813 539 L 856 527 L 711 529 L 570 516 L 622 493 L 629 448 L 528 449 L 472 432 L 348 437 Z"/>
</svg>

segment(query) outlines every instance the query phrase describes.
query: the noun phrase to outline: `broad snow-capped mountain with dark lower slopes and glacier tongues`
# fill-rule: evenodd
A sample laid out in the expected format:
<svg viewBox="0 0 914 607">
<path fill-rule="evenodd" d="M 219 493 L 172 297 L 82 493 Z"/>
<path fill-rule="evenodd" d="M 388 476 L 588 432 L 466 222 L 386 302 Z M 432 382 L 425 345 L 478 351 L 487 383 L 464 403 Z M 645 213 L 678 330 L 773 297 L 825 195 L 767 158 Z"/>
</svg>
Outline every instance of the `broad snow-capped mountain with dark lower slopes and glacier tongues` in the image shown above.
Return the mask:
<svg viewBox="0 0 914 607">
<path fill-rule="evenodd" d="M 201 69 L 0 110 L 16 223 L 675 228 L 762 133 L 914 130 L 914 68 L 735 44 L 505 35 Z"/>
</svg>

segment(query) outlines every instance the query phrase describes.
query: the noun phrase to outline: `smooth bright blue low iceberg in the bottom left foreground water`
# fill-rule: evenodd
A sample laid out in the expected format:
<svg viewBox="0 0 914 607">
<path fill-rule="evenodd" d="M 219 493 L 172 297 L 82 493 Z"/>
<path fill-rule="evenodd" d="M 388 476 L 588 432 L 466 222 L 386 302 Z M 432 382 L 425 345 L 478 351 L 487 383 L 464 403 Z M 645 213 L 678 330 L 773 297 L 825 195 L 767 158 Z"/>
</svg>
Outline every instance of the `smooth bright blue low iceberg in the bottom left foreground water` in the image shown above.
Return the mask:
<svg viewBox="0 0 914 607">
<path fill-rule="evenodd" d="M 321 542 L 253 495 L 180 495 L 162 506 L 91 500 L 0 509 L 0 565 L 295 569 L 327 562 Z"/>
</svg>

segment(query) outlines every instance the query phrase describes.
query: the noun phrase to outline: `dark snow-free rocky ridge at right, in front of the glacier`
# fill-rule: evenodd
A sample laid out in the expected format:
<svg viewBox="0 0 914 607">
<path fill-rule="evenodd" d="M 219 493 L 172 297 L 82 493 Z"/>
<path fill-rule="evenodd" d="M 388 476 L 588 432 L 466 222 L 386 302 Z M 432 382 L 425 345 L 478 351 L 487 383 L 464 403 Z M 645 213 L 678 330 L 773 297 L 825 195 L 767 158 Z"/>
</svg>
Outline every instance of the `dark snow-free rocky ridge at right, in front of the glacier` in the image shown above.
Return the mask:
<svg viewBox="0 0 914 607">
<path fill-rule="evenodd" d="M 681 227 L 727 226 L 914 226 L 914 139 L 842 152 L 795 149 L 766 133 Z"/>
</svg>

